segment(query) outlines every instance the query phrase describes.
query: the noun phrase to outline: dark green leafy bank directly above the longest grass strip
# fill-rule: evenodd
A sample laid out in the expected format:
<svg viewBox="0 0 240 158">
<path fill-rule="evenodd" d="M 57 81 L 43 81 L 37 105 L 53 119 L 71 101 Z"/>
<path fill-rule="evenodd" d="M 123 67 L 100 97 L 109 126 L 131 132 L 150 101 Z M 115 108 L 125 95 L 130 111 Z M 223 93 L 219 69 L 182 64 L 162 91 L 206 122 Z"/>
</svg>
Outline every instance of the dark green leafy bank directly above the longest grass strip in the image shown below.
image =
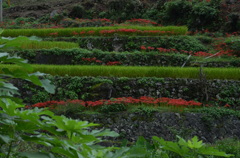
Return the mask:
<svg viewBox="0 0 240 158">
<path fill-rule="evenodd" d="M 104 52 L 101 50 L 86 49 L 40 49 L 40 50 L 15 50 L 11 54 L 27 59 L 32 64 L 54 65 L 125 65 L 125 66 L 199 66 L 196 62 L 200 57 L 191 57 L 183 54 L 161 54 L 159 52 Z M 232 60 L 207 60 L 201 62 L 207 67 L 240 67 L 240 59 Z"/>
</svg>

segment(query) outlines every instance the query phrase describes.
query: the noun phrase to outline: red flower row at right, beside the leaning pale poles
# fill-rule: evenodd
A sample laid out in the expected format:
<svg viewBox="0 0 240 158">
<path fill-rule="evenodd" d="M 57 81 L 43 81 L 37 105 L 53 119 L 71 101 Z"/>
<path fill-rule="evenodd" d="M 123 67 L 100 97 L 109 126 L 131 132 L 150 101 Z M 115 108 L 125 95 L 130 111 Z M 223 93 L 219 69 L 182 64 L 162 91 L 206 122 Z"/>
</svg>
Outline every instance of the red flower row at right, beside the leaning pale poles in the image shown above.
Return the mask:
<svg viewBox="0 0 240 158">
<path fill-rule="evenodd" d="M 140 46 L 141 50 L 148 50 L 148 51 L 152 51 L 152 50 L 158 50 L 160 53 L 180 53 L 180 54 L 188 54 L 188 55 L 193 55 L 193 56 L 202 56 L 202 57 L 207 57 L 207 56 L 211 56 L 213 55 L 212 53 L 207 53 L 207 52 L 203 52 L 203 51 L 199 51 L 199 52 L 193 52 L 193 51 L 186 51 L 186 50 L 177 50 L 174 48 L 170 48 L 170 49 L 166 49 L 166 48 L 154 48 L 154 47 L 146 47 L 146 46 Z M 217 54 L 215 54 L 214 56 L 223 56 L 223 55 L 228 55 L 228 56 L 232 56 L 231 51 L 224 51 L 221 50 L 219 51 Z"/>
</svg>

